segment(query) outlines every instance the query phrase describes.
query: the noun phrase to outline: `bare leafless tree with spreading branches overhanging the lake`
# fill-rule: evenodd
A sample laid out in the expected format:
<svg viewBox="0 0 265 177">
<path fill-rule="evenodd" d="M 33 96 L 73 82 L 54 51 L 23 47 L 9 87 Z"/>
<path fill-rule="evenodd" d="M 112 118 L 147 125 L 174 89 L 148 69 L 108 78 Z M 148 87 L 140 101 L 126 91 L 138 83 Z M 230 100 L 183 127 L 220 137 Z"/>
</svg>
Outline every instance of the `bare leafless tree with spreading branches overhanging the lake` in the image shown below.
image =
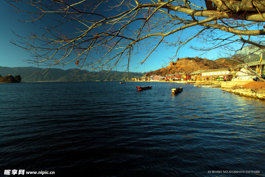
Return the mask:
<svg viewBox="0 0 265 177">
<path fill-rule="evenodd" d="M 25 22 L 53 14 L 53 21 L 44 25 L 45 33 L 17 34 L 21 40 L 11 41 L 30 51 L 34 58 L 27 62 L 49 68 L 74 62 L 80 69 L 110 71 L 126 59 L 127 71 L 134 54 L 146 52 L 139 63 L 143 64 L 163 43 L 176 48 L 169 56 L 173 60 L 191 40 L 207 46 L 190 46 L 203 53 L 232 44 L 240 46 L 238 50 L 245 45 L 265 49 L 265 0 L 5 1 L 17 12 L 30 14 L 32 20 Z M 187 28 L 193 33 L 186 34 Z"/>
</svg>

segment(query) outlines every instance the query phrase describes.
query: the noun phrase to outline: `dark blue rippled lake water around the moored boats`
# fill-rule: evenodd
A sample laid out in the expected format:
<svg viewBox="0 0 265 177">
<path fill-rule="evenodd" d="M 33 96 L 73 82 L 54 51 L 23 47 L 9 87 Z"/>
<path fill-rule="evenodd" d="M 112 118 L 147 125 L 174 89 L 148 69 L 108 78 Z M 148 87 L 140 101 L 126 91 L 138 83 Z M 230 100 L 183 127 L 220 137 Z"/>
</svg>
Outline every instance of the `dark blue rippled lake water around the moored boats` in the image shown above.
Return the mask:
<svg viewBox="0 0 265 177">
<path fill-rule="evenodd" d="M 171 94 L 177 87 L 183 92 Z M 17 83 L 0 84 L 0 91 L 0 176 L 10 176 L 8 169 L 55 172 L 43 176 L 265 175 L 262 100 L 159 82 Z"/>
</svg>

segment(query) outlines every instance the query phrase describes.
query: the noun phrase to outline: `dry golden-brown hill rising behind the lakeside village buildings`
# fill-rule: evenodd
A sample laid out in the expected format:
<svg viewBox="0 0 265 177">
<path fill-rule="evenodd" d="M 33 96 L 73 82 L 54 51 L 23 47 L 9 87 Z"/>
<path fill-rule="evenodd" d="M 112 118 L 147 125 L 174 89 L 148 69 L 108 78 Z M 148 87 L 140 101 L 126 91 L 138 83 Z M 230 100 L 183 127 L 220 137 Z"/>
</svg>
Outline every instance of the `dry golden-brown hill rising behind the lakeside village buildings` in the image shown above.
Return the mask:
<svg viewBox="0 0 265 177">
<path fill-rule="evenodd" d="M 165 76 L 166 74 L 175 74 L 183 72 L 190 74 L 198 70 L 211 70 L 222 67 L 233 67 L 237 65 L 237 63 L 225 58 L 220 58 L 215 61 L 212 61 L 206 58 L 188 57 L 188 58 L 180 58 L 175 62 L 176 65 L 167 66 L 165 68 L 148 72 L 147 74 L 144 75 L 144 77 L 148 77 L 155 74 Z"/>
</svg>

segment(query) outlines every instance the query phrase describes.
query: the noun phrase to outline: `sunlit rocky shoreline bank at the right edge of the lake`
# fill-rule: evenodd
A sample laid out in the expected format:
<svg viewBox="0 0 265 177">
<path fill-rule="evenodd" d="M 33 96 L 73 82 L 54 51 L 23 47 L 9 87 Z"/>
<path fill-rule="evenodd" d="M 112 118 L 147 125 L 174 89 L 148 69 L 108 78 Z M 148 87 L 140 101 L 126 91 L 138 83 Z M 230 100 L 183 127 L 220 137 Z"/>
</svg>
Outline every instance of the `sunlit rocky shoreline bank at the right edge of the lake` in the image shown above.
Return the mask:
<svg viewBox="0 0 265 177">
<path fill-rule="evenodd" d="M 234 93 L 240 96 L 258 98 L 260 100 L 265 100 L 265 92 L 259 89 L 243 89 L 243 88 L 222 88 L 224 91 L 229 93 Z"/>
</svg>

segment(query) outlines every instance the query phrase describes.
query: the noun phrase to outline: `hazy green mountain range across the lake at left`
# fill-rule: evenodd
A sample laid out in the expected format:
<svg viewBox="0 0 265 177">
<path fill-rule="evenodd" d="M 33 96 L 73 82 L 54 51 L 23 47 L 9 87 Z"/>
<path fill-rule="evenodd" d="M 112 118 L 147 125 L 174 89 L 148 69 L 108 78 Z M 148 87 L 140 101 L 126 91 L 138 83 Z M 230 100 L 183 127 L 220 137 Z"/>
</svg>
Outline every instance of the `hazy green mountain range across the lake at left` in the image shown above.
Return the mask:
<svg viewBox="0 0 265 177">
<path fill-rule="evenodd" d="M 68 79 L 76 77 L 78 75 L 86 74 L 87 70 L 78 69 L 68 69 L 62 70 L 58 68 L 50 68 L 47 72 L 46 69 L 37 68 L 37 67 L 2 67 L 0 66 L 0 74 L 4 77 L 6 75 L 20 75 L 22 80 L 21 82 L 47 82 L 47 81 L 68 81 Z M 78 72 L 77 72 L 78 71 Z M 36 73 L 38 74 L 36 74 Z M 44 74 L 40 74 L 43 73 Z M 91 72 L 87 76 L 80 76 L 69 81 L 122 81 L 127 78 L 142 77 L 146 72 L 120 72 L 120 71 L 100 71 L 100 72 Z"/>
</svg>

